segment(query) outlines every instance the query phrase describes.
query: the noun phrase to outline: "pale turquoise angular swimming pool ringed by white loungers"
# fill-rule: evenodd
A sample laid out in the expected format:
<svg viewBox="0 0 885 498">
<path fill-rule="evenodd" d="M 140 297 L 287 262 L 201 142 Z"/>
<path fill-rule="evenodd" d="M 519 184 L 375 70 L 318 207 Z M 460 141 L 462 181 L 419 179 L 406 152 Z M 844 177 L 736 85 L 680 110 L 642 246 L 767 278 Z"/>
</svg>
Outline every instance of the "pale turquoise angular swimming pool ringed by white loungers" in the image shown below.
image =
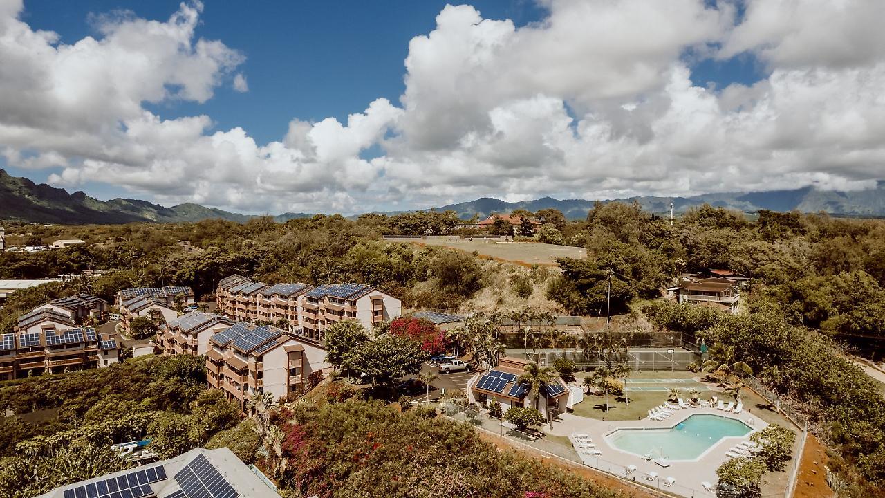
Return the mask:
<svg viewBox="0 0 885 498">
<path fill-rule="evenodd" d="M 742 421 L 714 414 L 695 414 L 679 424 L 662 429 L 619 429 L 605 440 L 612 447 L 643 456 L 667 460 L 696 460 L 722 438 L 742 437 L 752 428 Z"/>
</svg>

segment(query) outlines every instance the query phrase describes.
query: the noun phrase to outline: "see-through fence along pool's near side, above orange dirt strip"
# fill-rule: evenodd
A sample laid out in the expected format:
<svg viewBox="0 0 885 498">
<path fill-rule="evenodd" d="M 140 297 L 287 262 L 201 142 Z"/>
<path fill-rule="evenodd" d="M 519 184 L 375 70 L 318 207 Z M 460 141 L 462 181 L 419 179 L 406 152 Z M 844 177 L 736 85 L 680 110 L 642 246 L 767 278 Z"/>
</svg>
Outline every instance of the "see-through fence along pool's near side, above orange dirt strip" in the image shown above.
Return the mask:
<svg viewBox="0 0 885 498">
<path fill-rule="evenodd" d="M 648 479 L 647 474 L 639 471 L 631 472 L 623 463 L 609 462 L 600 456 L 585 455 L 581 457 L 573 447 L 566 447 L 545 437 L 538 437 L 527 432 L 518 431 L 505 424 L 500 418 L 489 416 L 476 409 L 453 402 L 445 402 L 441 405 L 441 408 L 450 419 L 464 424 L 471 424 L 473 427 L 494 434 L 514 446 L 527 447 L 530 450 L 540 452 L 543 455 L 566 463 L 604 472 L 619 479 L 627 486 L 635 486 L 637 489 L 642 489 L 647 493 L 657 494 L 661 497 L 675 495 L 690 498 L 709 498 L 715 496 L 715 494 L 704 489 L 682 486 L 678 482 L 668 485 L 666 480 L 660 476 L 655 479 Z"/>
</svg>

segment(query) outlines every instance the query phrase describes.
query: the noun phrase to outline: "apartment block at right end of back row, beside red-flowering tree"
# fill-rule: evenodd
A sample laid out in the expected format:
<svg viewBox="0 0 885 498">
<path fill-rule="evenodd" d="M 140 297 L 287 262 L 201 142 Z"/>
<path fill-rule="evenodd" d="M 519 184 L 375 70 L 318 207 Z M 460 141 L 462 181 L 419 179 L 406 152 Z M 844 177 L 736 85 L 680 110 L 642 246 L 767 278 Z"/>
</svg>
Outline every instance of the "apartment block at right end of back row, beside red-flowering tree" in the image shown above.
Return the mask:
<svg viewBox="0 0 885 498">
<path fill-rule="evenodd" d="M 302 334 L 322 339 L 323 331 L 342 320 L 356 320 L 366 330 L 399 318 L 403 303 L 366 284 L 322 284 L 304 294 L 301 305 Z"/>
</svg>

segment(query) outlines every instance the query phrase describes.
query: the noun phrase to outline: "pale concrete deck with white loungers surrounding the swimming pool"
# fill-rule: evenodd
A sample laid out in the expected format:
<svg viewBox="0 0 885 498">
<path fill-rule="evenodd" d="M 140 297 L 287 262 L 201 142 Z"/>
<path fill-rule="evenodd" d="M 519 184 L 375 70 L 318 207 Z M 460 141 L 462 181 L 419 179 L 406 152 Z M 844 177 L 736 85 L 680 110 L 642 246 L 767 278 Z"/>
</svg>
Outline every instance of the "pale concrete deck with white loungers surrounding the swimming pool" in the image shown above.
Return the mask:
<svg viewBox="0 0 885 498">
<path fill-rule="evenodd" d="M 625 479 L 659 487 L 668 493 L 681 494 L 683 496 L 714 496 L 714 494 L 705 492 L 701 483 L 709 482 L 715 486 L 717 481 L 716 469 L 729 459 L 725 455 L 728 449 L 742 440 L 750 440 L 752 432 L 741 437 L 723 438 L 704 452 L 696 461 L 671 461 L 670 466 L 666 468 L 661 467 L 654 461 L 643 460 L 639 455 L 612 447 L 608 440 L 605 439 L 607 434 L 618 429 L 670 428 L 689 416 L 696 414 L 712 414 L 739 419 L 744 424 L 749 425 L 754 432 L 768 425 L 758 416 L 748 412 L 735 415 L 714 408 L 697 408 L 681 409 L 665 420 L 659 421 L 648 418 L 643 418 L 642 420 L 594 420 L 566 413 L 558 416 L 558 421 L 554 422 L 552 430 L 544 427 L 544 432 L 566 437 L 571 436 L 574 432 L 588 434 L 593 439 L 593 443 L 596 444 L 596 449 L 602 451 L 602 455 L 598 455 L 598 457 L 579 454 L 584 463 L 590 467 L 604 469 L 605 471 L 619 474 Z M 636 471 L 627 474 L 628 465 L 635 465 Z M 658 479 L 652 481 L 645 479 L 648 472 L 657 472 Z M 676 479 L 676 484 L 672 487 L 664 486 L 665 479 L 669 477 Z"/>
</svg>

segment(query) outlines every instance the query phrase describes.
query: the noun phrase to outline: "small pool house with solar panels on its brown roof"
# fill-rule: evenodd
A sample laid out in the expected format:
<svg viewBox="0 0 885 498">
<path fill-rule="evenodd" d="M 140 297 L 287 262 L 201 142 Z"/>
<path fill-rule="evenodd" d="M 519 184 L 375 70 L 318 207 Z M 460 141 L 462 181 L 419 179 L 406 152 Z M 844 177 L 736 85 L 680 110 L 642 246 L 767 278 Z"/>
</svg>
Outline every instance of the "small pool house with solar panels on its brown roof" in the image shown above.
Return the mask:
<svg viewBox="0 0 885 498">
<path fill-rule="evenodd" d="M 467 392 L 470 402 L 486 406 L 489 400 L 496 398 L 505 413 L 513 407 L 537 408 L 545 418 L 564 413 L 571 406 L 572 390 L 556 377 L 550 384 L 541 387 L 538 404 L 529 396 L 529 385 L 519 382 L 519 376 L 528 364 L 527 360 L 502 356 L 496 367 L 480 372 L 467 381 Z"/>
</svg>

